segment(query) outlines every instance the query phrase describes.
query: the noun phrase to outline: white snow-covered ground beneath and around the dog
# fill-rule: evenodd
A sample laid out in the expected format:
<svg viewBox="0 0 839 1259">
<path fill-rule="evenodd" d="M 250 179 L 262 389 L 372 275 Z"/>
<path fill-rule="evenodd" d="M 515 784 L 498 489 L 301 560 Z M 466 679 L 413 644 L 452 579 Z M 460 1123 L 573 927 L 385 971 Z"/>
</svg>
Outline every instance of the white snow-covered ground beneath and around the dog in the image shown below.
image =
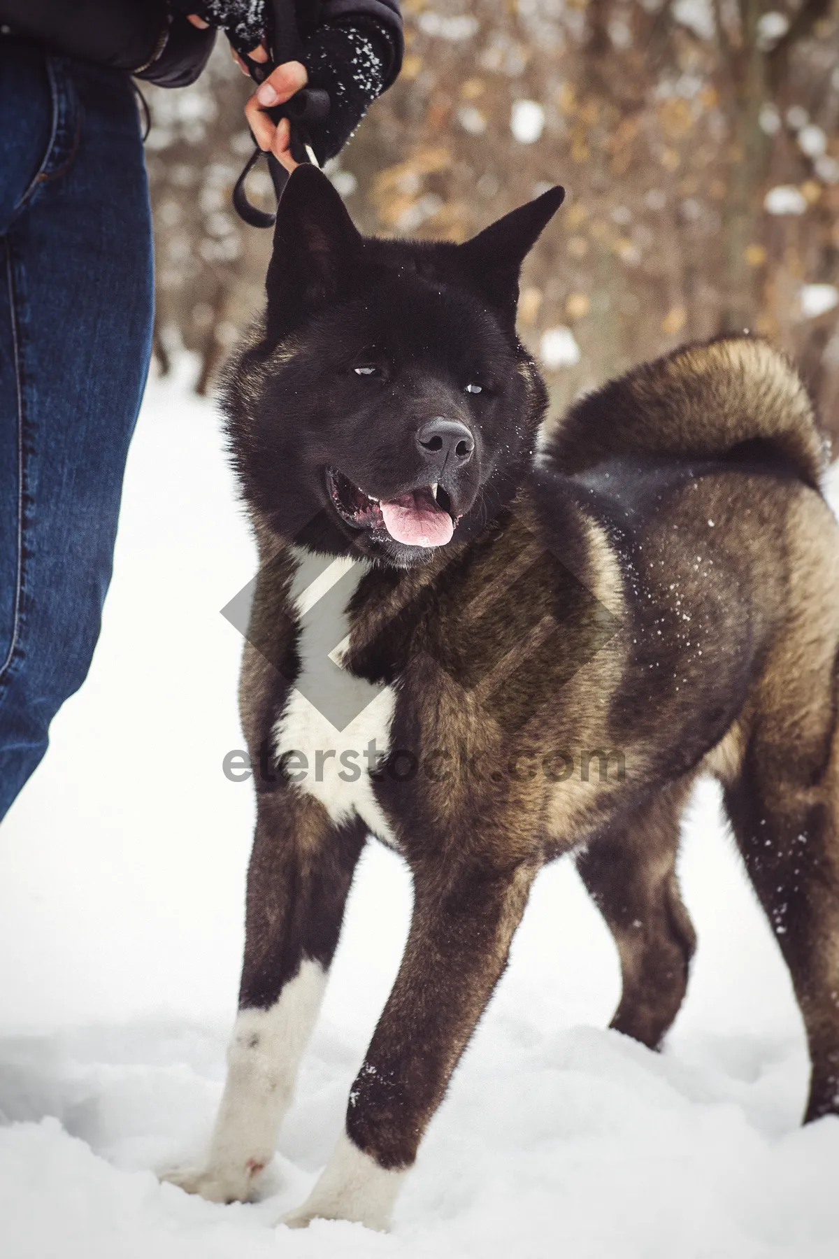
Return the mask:
<svg viewBox="0 0 839 1259">
<path fill-rule="evenodd" d="M 208 1134 L 235 1005 L 252 799 L 221 772 L 240 641 L 219 608 L 252 570 L 210 407 L 152 384 L 89 680 L 0 830 L 3 1259 L 833 1259 L 839 1119 L 799 1128 L 800 1017 L 709 784 L 683 856 L 699 952 L 664 1054 L 605 1030 L 614 948 L 553 866 L 394 1233 L 273 1229 L 326 1160 L 405 937 L 405 871 L 371 845 L 272 1196 L 157 1182 Z"/>
</svg>

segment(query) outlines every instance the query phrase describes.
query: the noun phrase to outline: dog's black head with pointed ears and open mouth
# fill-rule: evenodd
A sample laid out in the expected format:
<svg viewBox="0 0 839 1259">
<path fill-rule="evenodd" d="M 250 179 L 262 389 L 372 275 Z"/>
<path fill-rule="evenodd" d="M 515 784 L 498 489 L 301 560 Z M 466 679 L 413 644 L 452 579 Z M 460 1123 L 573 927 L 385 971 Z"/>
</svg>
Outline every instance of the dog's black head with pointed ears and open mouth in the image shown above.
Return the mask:
<svg viewBox="0 0 839 1259">
<path fill-rule="evenodd" d="M 516 337 L 552 189 L 463 246 L 362 238 L 326 176 L 279 206 L 264 334 L 228 371 L 245 499 L 312 549 L 410 567 L 514 494 L 546 393 Z"/>
</svg>

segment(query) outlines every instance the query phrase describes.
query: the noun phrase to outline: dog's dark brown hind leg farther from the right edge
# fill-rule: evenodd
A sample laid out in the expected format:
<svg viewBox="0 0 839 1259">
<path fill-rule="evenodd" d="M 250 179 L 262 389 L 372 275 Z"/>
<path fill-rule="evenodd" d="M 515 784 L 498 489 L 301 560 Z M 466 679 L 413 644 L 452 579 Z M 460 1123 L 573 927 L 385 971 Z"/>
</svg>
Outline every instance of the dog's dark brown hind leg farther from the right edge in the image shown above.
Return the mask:
<svg viewBox="0 0 839 1259">
<path fill-rule="evenodd" d="M 679 1011 L 696 946 L 675 876 L 679 816 L 689 789 L 689 782 L 664 788 L 577 857 L 620 957 L 623 993 L 611 1026 L 650 1049 L 660 1045 Z"/>
</svg>

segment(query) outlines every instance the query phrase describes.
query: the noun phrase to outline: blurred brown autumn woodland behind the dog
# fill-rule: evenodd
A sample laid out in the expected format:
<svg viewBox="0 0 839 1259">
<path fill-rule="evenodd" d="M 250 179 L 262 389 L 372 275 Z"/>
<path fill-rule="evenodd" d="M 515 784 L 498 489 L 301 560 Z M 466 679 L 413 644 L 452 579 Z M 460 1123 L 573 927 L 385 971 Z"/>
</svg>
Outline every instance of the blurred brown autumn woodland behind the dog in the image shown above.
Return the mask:
<svg viewBox="0 0 839 1259">
<path fill-rule="evenodd" d="M 800 364 L 839 437 L 839 0 L 403 6 L 403 76 L 330 169 L 364 230 L 465 239 L 562 183 L 520 317 L 557 409 L 640 358 L 751 327 Z M 151 102 L 158 341 L 199 349 L 203 385 L 269 247 L 229 208 L 244 94 L 218 55 Z"/>
</svg>

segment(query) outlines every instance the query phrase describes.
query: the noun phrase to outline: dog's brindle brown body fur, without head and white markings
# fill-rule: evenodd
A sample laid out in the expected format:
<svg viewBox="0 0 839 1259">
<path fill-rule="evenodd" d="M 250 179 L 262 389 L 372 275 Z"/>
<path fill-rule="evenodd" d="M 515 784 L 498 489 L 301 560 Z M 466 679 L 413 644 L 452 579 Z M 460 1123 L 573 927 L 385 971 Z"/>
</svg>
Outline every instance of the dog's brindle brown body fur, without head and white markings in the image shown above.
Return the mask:
<svg viewBox="0 0 839 1259">
<path fill-rule="evenodd" d="M 374 792 L 415 891 L 347 1110 L 377 1167 L 414 1161 L 532 880 L 562 854 L 619 949 L 613 1026 L 660 1044 L 696 942 L 675 855 L 703 772 L 790 968 L 806 1118 L 839 1112 L 839 530 L 823 457 L 806 393 L 769 345 L 688 346 L 576 403 L 473 540 L 362 577 L 345 667 L 395 690 Z M 294 554 L 254 517 L 242 711 L 255 765 L 298 627 Z M 306 958 L 328 968 L 364 840 L 282 767 L 258 778 L 243 1008 L 270 1007 Z"/>
</svg>

